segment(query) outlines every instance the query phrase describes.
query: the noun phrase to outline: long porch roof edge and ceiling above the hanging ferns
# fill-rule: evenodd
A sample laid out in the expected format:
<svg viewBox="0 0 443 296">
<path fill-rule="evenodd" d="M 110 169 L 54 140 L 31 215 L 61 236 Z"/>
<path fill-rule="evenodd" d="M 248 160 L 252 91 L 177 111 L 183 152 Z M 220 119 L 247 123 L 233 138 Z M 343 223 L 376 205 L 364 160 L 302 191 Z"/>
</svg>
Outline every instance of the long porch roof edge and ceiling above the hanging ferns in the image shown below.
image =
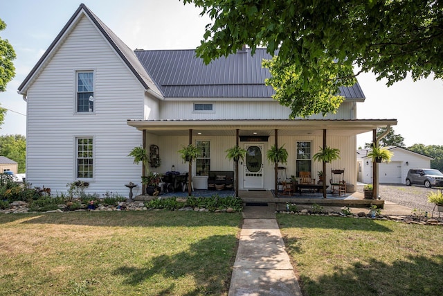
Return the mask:
<svg viewBox="0 0 443 296">
<path fill-rule="evenodd" d="M 275 129 L 281 136 L 320 136 L 327 130 L 328 136 L 353 136 L 370 132 L 387 125 L 397 125 L 396 119 L 298 119 L 298 120 L 181 120 L 142 121 L 128 120 L 127 124 L 138 130 L 147 130 L 159 136 L 193 135 L 272 136 Z M 255 134 L 256 133 L 256 134 Z"/>
</svg>

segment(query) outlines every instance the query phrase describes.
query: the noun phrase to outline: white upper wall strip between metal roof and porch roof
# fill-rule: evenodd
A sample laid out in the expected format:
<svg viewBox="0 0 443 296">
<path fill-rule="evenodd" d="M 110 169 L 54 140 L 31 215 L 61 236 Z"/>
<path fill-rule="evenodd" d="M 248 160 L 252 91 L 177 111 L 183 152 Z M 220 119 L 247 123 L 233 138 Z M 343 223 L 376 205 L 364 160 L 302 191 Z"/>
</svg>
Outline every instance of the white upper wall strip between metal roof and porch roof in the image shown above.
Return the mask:
<svg viewBox="0 0 443 296">
<path fill-rule="evenodd" d="M 216 99 L 217 100 L 217 99 Z M 212 103 L 213 112 L 194 112 L 194 103 Z M 172 101 L 165 99 L 161 102 L 161 119 L 288 119 L 291 111 L 277 101 L 263 99 L 262 101 L 215 101 L 208 98 L 199 101 Z M 309 116 L 308 119 L 355 119 L 355 103 L 344 102 L 335 114 Z"/>
</svg>

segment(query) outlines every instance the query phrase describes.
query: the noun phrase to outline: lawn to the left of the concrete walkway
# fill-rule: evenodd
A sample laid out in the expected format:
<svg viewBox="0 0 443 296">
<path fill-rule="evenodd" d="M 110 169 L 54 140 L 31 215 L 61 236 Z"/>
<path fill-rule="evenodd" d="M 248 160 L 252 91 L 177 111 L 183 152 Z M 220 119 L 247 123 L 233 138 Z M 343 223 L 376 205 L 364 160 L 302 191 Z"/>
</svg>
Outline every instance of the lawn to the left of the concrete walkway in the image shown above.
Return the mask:
<svg viewBox="0 0 443 296">
<path fill-rule="evenodd" d="M 241 214 L 0 215 L 0 295 L 227 295 Z"/>
</svg>

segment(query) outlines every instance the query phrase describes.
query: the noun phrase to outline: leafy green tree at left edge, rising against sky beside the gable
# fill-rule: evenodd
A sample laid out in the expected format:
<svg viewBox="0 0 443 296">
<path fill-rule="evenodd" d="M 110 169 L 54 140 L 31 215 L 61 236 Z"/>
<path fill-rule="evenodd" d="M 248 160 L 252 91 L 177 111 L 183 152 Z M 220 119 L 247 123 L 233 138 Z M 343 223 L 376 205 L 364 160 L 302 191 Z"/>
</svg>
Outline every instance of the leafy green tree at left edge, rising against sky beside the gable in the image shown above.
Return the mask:
<svg viewBox="0 0 443 296">
<path fill-rule="evenodd" d="M 0 31 L 4 29 L 6 29 L 6 24 L 0 19 Z M 15 51 L 12 45 L 8 40 L 2 40 L 0 37 L 0 92 L 6 91 L 6 85 L 15 76 L 15 67 L 12 64 L 14 59 Z"/>
</svg>

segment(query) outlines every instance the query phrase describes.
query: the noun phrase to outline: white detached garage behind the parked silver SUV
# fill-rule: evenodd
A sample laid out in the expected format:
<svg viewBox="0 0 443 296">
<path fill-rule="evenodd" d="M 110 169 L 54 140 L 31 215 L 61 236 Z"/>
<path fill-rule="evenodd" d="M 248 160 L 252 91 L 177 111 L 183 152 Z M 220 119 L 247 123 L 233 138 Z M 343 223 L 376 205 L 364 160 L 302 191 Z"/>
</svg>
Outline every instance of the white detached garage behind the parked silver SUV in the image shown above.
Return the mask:
<svg viewBox="0 0 443 296">
<path fill-rule="evenodd" d="M 379 183 L 404 184 L 410 168 L 431 168 L 432 157 L 415 153 L 399 146 L 388 146 L 394 155 L 391 162 L 379 164 Z M 372 159 L 367 157 L 370 149 L 357 150 L 357 181 L 372 183 Z"/>
</svg>

